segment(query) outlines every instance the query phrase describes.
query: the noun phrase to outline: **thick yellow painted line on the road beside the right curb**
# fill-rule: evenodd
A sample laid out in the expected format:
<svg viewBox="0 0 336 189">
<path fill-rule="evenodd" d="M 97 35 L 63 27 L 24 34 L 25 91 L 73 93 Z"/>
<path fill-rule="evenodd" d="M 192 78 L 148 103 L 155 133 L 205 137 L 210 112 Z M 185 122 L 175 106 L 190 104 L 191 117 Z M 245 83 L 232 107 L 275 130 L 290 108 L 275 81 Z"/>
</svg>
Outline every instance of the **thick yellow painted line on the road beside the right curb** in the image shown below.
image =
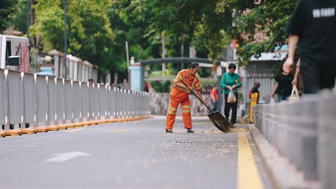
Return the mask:
<svg viewBox="0 0 336 189">
<path fill-rule="evenodd" d="M 237 189 L 264 189 L 247 134 L 238 135 Z"/>
</svg>

